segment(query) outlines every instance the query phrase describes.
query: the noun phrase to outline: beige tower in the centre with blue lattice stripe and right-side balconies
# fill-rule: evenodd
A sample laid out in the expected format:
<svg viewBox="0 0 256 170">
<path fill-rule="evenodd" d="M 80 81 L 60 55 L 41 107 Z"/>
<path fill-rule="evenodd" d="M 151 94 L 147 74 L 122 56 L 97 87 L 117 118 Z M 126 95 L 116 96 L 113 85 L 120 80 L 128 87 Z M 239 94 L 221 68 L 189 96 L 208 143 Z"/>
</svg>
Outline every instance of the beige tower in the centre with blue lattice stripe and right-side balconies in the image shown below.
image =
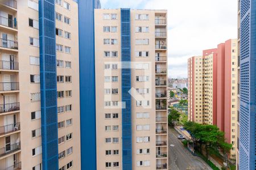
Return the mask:
<svg viewBox="0 0 256 170">
<path fill-rule="evenodd" d="M 167 11 L 94 16 L 97 169 L 168 169 Z"/>
</svg>

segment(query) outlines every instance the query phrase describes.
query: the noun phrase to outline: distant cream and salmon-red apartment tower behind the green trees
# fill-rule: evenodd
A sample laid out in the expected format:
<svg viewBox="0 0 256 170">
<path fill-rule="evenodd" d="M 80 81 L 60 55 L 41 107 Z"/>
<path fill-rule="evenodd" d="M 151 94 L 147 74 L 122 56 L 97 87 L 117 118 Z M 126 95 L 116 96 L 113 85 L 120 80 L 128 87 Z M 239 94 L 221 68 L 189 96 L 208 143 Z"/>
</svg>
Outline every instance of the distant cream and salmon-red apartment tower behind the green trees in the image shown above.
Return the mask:
<svg viewBox="0 0 256 170">
<path fill-rule="evenodd" d="M 236 39 L 188 59 L 188 120 L 216 125 L 233 144 L 236 159 L 238 42 Z"/>
</svg>

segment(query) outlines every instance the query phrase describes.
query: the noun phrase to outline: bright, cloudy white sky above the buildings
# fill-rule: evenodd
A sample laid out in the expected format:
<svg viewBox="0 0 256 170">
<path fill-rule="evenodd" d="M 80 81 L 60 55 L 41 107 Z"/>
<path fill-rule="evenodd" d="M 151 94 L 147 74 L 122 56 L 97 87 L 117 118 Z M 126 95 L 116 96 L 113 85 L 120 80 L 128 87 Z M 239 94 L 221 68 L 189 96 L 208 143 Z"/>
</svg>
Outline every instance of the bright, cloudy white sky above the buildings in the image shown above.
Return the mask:
<svg viewBox="0 0 256 170">
<path fill-rule="evenodd" d="M 101 0 L 102 8 L 168 10 L 168 76 L 187 77 L 187 59 L 237 38 L 236 0 Z"/>
</svg>

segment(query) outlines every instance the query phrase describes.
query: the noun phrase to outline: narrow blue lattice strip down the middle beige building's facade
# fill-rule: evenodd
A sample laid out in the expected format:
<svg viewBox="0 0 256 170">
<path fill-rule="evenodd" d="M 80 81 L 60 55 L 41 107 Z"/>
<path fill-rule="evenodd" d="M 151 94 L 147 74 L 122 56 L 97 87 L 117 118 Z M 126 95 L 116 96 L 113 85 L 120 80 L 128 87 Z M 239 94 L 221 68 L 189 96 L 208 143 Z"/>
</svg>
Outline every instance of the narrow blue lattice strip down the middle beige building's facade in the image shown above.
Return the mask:
<svg viewBox="0 0 256 170">
<path fill-rule="evenodd" d="M 130 9 L 121 8 L 121 53 L 122 53 L 122 169 L 132 169 L 131 150 L 131 31 Z"/>
</svg>

